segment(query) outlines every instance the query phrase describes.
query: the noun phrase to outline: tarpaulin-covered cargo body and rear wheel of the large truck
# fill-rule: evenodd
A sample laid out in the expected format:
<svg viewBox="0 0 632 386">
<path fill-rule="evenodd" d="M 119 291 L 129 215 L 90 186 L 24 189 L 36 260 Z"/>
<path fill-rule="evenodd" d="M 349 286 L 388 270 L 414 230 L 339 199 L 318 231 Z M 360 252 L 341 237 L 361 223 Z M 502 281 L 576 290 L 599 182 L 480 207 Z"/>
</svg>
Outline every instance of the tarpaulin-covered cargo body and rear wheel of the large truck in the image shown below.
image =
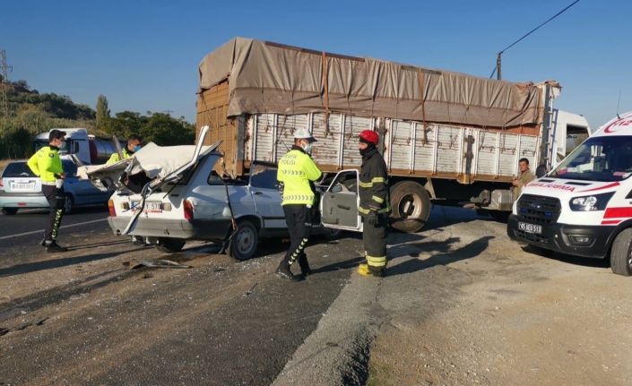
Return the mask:
<svg viewBox="0 0 632 386">
<path fill-rule="evenodd" d="M 555 164 L 556 81 L 514 83 L 236 38 L 199 64 L 196 127 L 222 141 L 222 173 L 276 162 L 306 128 L 325 182 L 359 168 L 358 134 L 380 134 L 392 226 L 420 230 L 430 202 L 512 208 L 518 160 Z"/>
</svg>

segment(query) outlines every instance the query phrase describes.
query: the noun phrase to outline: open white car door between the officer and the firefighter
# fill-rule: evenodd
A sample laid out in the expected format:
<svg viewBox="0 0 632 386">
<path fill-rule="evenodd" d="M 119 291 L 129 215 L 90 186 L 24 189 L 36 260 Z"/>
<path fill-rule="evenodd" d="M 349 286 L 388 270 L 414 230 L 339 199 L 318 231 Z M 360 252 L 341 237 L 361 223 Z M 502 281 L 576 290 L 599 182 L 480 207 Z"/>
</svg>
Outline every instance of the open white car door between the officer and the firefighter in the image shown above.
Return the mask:
<svg viewBox="0 0 632 386">
<path fill-rule="evenodd" d="M 321 222 L 325 227 L 362 231 L 358 179 L 357 170 L 342 170 L 333 178 L 320 202 Z"/>
</svg>

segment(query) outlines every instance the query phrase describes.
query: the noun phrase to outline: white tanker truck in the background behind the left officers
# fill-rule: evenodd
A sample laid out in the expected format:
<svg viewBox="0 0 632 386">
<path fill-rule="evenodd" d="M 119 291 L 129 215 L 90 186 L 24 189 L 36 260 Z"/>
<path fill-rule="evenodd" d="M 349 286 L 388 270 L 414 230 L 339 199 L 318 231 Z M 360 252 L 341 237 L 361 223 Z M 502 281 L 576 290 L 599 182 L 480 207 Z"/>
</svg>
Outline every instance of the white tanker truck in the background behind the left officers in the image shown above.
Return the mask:
<svg viewBox="0 0 632 386">
<path fill-rule="evenodd" d="M 59 150 L 62 158 L 70 159 L 70 156 L 74 155 L 83 165 L 97 165 L 104 164 L 112 153 L 117 152 L 117 146 L 113 139 L 95 137 L 84 128 L 62 128 L 57 130 L 61 130 L 66 134 L 65 146 Z M 35 137 L 35 151 L 48 145 L 48 133 L 39 133 Z M 125 147 L 124 142 L 120 142 L 120 146 Z"/>
</svg>

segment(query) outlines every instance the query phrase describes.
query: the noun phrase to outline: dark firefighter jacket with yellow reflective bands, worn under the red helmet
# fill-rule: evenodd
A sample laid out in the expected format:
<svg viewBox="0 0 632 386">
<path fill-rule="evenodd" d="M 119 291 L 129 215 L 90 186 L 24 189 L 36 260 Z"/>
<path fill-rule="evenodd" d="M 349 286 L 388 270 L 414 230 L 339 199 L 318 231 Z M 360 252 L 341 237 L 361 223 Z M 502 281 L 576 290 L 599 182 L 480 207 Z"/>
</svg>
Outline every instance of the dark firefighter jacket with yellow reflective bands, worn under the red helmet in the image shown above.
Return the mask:
<svg viewBox="0 0 632 386">
<path fill-rule="evenodd" d="M 362 156 L 358 192 L 358 210 L 361 215 L 366 216 L 370 210 L 390 213 L 391 202 L 388 195 L 386 163 L 375 147 Z"/>
</svg>

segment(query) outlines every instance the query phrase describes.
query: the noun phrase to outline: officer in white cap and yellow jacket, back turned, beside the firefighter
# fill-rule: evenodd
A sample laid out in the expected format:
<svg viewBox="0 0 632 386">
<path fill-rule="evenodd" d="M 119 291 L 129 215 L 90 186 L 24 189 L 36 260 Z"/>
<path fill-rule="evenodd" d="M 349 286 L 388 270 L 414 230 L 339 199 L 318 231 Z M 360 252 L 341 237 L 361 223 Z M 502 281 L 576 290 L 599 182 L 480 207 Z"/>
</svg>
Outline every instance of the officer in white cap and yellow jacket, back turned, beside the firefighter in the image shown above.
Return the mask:
<svg viewBox="0 0 632 386">
<path fill-rule="evenodd" d="M 298 281 L 311 273 L 305 254 L 305 246 L 312 223 L 310 211 L 315 202 L 314 181 L 322 172 L 311 159 L 312 143 L 316 139 L 307 129 L 294 133 L 291 150 L 279 161 L 277 180 L 281 187 L 285 222 L 290 232 L 290 249 L 276 270 L 282 279 Z M 290 266 L 299 261 L 301 276 L 294 275 Z"/>
</svg>

